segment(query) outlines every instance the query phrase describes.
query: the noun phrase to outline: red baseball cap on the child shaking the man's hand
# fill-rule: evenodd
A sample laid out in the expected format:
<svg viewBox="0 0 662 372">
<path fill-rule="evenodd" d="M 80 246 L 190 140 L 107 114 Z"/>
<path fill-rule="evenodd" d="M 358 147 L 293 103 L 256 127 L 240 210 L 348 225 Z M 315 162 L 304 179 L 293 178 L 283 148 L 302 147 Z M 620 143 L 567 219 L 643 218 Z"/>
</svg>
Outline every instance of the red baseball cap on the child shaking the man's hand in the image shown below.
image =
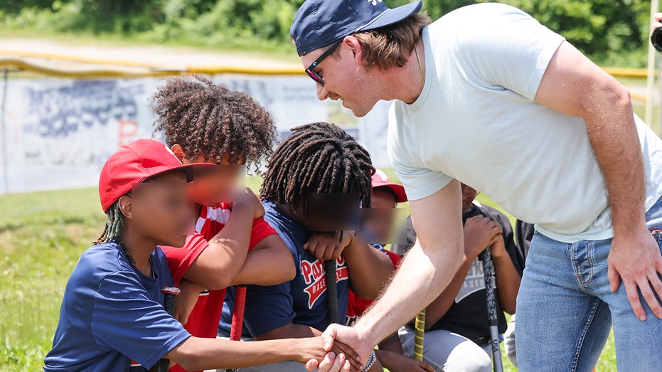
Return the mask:
<svg viewBox="0 0 662 372">
<path fill-rule="evenodd" d="M 131 191 L 134 184 L 167 171 L 181 169 L 186 172 L 186 178 L 191 182 L 193 166 L 201 165 L 213 164 L 181 164 L 165 144 L 154 139 L 138 139 L 124 144 L 108 158 L 101 169 L 101 207 L 104 212 L 107 211 L 114 202 Z"/>
</svg>

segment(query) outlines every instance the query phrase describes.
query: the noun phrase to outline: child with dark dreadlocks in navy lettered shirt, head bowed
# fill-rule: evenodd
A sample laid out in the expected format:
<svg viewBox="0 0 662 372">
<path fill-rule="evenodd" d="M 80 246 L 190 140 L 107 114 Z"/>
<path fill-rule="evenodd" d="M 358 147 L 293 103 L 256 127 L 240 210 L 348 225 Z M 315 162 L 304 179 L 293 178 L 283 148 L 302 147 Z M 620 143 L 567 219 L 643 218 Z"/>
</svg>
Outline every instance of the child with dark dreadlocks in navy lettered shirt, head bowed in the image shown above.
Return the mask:
<svg viewBox="0 0 662 372">
<path fill-rule="evenodd" d="M 244 322 L 250 336 L 257 340 L 317 336 L 329 325 L 332 313 L 338 314 L 338 319 L 345 319 L 350 288 L 361 297 L 377 297 L 393 272 L 388 257 L 351 231 L 316 233 L 320 226 L 328 231 L 321 223 L 325 216 L 346 215 L 337 213 L 343 206 L 329 208 L 328 203 L 324 206 L 323 201 L 316 201 L 316 196 L 356 196 L 349 206 L 356 214 L 360 203 L 363 207 L 370 206 L 373 172 L 368 152 L 333 124 L 319 122 L 296 127 L 277 147 L 269 159 L 260 193 L 265 219 L 292 253 L 297 275 L 281 285 L 248 287 Z M 319 250 L 311 245 L 326 247 L 325 260 L 337 257 L 337 309 L 329 309 L 324 261 L 309 251 Z M 231 290 L 228 290 L 223 309 L 221 335 L 230 330 Z M 339 358 L 344 356 L 340 354 Z M 356 362 L 351 362 L 353 367 L 358 367 Z M 370 367 L 369 361 L 363 363 Z M 381 371 L 378 364 L 375 363 L 375 368 Z M 240 371 L 301 369 L 295 363 L 286 362 Z"/>
</svg>

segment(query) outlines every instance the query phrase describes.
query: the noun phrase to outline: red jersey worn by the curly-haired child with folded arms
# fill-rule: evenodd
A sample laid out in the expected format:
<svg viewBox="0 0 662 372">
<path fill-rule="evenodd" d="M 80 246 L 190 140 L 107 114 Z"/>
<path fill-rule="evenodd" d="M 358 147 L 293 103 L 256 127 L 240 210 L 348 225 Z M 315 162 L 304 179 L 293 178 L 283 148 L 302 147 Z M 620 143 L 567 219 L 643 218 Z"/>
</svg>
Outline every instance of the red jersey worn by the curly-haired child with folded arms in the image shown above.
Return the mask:
<svg viewBox="0 0 662 372">
<path fill-rule="evenodd" d="M 207 241 L 223 230 L 228 223 L 230 213 L 228 203 L 220 203 L 215 207 L 202 207 L 196 222 L 196 233 L 188 235 L 186 244 L 182 248 L 161 247 L 168 258 L 168 266 L 175 285 L 179 285 L 188 267 L 191 267 L 196 258 L 207 248 Z M 257 218 L 253 221 L 248 250 L 252 250 L 260 240 L 272 234 L 276 234 L 276 230 L 264 218 Z M 224 299 L 225 288 L 201 294 L 184 328 L 196 337 L 215 338 Z M 184 369 L 174 366 L 170 371 L 183 372 Z"/>
</svg>

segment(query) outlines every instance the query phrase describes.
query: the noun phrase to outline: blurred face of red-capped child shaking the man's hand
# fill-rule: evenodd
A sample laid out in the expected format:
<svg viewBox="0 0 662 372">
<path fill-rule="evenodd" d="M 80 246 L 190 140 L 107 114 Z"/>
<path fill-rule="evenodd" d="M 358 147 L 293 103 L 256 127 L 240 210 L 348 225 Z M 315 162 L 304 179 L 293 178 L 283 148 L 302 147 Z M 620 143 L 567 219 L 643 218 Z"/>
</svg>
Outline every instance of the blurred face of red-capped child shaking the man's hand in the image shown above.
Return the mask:
<svg viewBox="0 0 662 372">
<path fill-rule="evenodd" d="M 193 232 L 195 218 L 187 185 L 182 171 L 161 174 L 134 185 L 130 196 L 132 230 L 158 245 L 182 247 L 186 235 Z"/>
</svg>

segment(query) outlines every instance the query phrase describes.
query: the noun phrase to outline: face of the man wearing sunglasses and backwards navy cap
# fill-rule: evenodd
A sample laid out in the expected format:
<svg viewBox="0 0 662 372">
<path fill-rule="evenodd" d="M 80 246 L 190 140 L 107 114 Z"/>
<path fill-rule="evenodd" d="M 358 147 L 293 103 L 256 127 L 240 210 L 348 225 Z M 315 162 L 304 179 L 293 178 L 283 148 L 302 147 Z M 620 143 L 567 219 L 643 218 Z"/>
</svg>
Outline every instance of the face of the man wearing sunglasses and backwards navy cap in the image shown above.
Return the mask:
<svg viewBox="0 0 662 372">
<path fill-rule="evenodd" d="M 304 68 L 309 68 L 326 48 L 302 55 Z M 353 36 L 347 36 L 335 53 L 311 68 L 323 80 L 323 84 L 317 84 L 317 98 L 341 100 L 354 115 L 365 116 L 382 97 L 375 90 L 375 78 L 370 76 L 374 68 L 365 68 L 362 61 L 361 44 Z"/>
</svg>

